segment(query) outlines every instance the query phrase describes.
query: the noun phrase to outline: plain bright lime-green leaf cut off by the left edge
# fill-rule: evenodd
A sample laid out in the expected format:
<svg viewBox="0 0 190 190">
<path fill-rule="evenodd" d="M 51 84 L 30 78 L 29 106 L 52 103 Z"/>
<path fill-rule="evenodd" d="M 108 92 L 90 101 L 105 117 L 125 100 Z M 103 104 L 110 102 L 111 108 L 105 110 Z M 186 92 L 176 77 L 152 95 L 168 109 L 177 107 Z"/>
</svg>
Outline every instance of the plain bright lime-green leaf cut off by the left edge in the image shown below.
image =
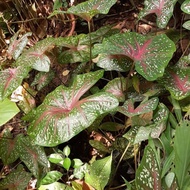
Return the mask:
<svg viewBox="0 0 190 190">
<path fill-rule="evenodd" d="M 17 105 L 9 99 L 0 101 L 0 126 L 12 119 L 19 111 Z"/>
</svg>

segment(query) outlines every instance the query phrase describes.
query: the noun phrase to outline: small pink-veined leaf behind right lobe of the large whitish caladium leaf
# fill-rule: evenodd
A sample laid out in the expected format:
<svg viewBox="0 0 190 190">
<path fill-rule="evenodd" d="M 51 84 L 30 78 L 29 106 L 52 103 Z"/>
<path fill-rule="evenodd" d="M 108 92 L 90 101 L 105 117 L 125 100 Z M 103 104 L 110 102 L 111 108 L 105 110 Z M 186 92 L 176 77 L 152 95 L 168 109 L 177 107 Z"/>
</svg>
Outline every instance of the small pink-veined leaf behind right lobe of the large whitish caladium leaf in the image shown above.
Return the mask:
<svg viewBox="0 0 190 190">
<path fill-rule="evenodd" d="M 104 90 L 113 94 L 119 102 L 125 101 L 125 90 L 126 90 L 126 79 L 124 77 L 115 78 L 111 80 L 105 87 Z"/>
</svg>

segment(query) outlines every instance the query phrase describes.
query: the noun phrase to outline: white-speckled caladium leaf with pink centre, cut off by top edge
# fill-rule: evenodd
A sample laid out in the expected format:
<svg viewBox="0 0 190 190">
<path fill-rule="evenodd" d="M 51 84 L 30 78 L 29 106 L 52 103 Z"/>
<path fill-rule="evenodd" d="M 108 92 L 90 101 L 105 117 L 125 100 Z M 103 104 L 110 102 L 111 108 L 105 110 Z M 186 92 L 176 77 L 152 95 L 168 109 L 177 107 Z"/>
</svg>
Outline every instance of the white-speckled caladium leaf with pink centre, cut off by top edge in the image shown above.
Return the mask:
<svg viewBox="0 0 190 190">
<path fill-rule="evenodd" d="M 165 28 L 173 15 L 174 5 L 177 0 L 145 0 L 144 9 L 139 14 L 139 19 L 155 13 L 157 16 L 157 26 Z"/>
</svg>

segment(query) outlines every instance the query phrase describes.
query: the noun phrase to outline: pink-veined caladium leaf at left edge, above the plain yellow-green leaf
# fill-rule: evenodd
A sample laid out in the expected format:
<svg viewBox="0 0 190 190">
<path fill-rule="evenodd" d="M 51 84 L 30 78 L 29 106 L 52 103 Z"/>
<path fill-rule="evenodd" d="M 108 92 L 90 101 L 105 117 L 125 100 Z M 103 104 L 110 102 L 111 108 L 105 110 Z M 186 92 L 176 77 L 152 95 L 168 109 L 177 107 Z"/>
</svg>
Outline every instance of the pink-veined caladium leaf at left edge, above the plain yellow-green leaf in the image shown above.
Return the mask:
<svg viewBox="0 0 190 190">
<path fill-rule="evenodd" d="M 30 68 L 19 66 L 0 71 L 0 101 L 8 97 L 28 75 Z"/>
</svg>

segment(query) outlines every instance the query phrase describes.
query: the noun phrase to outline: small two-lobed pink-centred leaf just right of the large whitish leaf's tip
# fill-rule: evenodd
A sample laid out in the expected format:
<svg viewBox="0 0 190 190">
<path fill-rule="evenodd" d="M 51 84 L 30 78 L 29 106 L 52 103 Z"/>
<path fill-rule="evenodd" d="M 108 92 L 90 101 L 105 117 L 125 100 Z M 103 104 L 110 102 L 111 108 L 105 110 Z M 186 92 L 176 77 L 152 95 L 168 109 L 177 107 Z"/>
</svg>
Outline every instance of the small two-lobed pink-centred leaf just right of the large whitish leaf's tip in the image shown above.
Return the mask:
<svg viewBox="0 0 190 190">
<path fill-rule="evenodd" d="M 158 102 L 158 98 L 155 97 L 151 98 L 150 100 L 141 102 L 141 104 L 137 108 L 134 108 L 134 101 L 132 99 L 129 99 L 125 101 L 123 106 L 120 106 L 118 108 L 118 111 L 128 117 L 132 117 L 135 115 L 140 115 L 155 110 L 158 105 Z"/>
</svg>

